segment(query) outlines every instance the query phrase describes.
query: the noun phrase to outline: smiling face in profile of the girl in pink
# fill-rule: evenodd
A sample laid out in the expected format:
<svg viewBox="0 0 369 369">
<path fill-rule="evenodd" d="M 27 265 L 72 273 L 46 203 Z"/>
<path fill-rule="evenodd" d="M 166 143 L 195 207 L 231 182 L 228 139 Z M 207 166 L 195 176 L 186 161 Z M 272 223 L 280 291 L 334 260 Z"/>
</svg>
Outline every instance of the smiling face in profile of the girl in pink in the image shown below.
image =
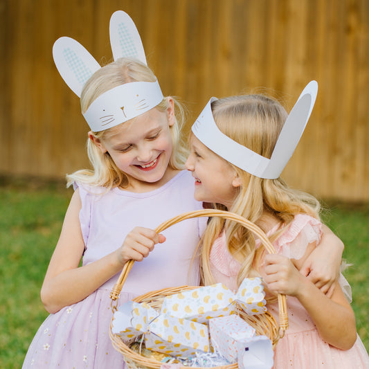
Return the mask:
<svg viewBox="0 0 369 369">
<path fill-rule="evenodd" d="M 193 134 L 186 169 L 195 178 L 195 199 L 231 208 L 240 186 L 235 170 Z"/>
</svg>

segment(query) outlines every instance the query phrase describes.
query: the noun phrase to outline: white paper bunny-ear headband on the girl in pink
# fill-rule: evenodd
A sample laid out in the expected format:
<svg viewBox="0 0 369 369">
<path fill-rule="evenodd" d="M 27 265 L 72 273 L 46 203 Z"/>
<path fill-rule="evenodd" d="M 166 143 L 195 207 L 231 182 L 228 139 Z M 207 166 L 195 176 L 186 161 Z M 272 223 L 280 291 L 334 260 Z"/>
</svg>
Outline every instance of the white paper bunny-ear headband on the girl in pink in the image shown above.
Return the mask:
<svg viewBox="0 0 369 369">
<path fill-rule="evenodd" d="M 211 103 L 217 98 L 210 98 L 199 118 L 192 125 L 192 132 L 206 147 L 238 168 L 256 177 L 276 179 L 282 173 L 300 141 L 307 120 L 312 114 L 317 93 L 318 83 L 309 82 L 282 127 L 271 159 L 249 150 L 220 131 L 211 111 Z"/>
</svg>

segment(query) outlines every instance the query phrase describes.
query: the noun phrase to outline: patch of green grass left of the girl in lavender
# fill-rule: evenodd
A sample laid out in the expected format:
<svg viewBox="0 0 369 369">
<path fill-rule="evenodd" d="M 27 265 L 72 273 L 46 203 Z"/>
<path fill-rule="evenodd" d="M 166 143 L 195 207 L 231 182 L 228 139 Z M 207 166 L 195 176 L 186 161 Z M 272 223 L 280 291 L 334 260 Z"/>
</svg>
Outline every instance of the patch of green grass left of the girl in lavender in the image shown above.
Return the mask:
<svg viewBox="0 0 369 369">
<path fill-rule="evenodd" d="M 21 368 L 48 315 L 39 290 L 70 192 L 0 188 L 0 368 Z"/>
</svg>

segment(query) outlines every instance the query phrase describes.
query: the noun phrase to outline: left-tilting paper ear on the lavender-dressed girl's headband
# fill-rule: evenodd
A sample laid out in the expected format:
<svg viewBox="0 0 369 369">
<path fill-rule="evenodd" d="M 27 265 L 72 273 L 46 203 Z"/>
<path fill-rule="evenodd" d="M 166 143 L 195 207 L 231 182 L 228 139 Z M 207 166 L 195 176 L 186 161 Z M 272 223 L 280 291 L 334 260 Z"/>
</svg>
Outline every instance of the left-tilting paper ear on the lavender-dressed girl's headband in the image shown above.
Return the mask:
<svg viewBox="0 0 369 369">
<path fill-rule="evenodd" d="M 55 41 L 53 57 L 63 80 L 78 97 L 87 80 L 101 68 L 93 56 L 70 37 L 60 37 Z"/>
</svg>

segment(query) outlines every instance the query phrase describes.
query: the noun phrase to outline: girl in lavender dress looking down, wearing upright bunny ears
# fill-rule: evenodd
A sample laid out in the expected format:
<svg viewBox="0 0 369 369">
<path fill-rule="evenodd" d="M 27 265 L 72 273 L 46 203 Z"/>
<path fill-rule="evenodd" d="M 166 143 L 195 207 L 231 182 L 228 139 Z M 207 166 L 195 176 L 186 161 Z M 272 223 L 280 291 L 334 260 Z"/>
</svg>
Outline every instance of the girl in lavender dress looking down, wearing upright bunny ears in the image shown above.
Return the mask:
<svg viewBox="0 0 369 369">
<path fill-rule="evenodd" d="M 23 368 L 124 368 L 109 339 L 109 293 L 128 260 L 137 262 L 119 304 L 153 289 L 199 284 L 192 255 L 204 219 L 159 236 L 150 229 L 202 208 L 184 168 L 181 107 L 161 93 L 132 19 L 114 13 L 110 32 L 115 61 L 102 68 L 73 39 L 62 37 L 53 48 L 62 78 L 81 98 L 93 169 L 67 177 L 75 192 L 41 291 L 51 314 Z"/>
</svg>

